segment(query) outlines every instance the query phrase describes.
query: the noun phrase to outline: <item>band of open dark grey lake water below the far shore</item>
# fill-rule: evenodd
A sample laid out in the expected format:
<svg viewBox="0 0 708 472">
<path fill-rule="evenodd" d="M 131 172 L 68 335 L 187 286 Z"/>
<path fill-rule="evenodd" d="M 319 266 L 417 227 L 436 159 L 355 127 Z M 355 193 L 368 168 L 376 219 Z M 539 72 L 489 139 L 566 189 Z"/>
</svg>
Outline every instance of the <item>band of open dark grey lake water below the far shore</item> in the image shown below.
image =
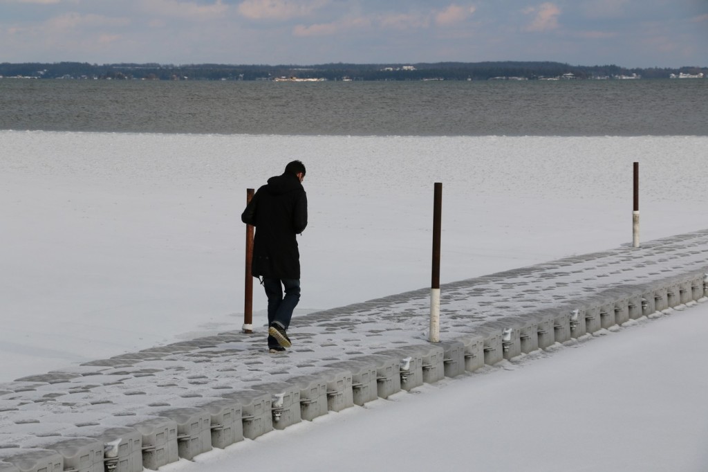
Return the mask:
<svg viewBox="0 0 708 472">
<path fill-rule="evenodd" d="M 708 135 L 708 80 L 0 80 L 0 129 L 418 136 Z"/>
</svg>

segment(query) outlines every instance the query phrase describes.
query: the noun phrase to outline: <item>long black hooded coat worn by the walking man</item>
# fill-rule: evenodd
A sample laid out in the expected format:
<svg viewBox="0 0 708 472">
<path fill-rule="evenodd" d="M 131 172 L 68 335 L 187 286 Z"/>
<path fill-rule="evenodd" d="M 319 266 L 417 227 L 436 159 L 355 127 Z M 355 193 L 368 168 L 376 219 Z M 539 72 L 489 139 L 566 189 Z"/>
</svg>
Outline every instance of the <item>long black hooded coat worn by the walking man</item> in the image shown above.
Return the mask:
<svg viewBox="0 0 708 472">
<path fill-rule="evenodd" d="M 299 279 L 295 235 L 307 226 L 307 193 L 296 175 L 270 177 L 256 191 L 241 221 L 256 227 L 251 274 L 267 279 Z"/>
</svg>

